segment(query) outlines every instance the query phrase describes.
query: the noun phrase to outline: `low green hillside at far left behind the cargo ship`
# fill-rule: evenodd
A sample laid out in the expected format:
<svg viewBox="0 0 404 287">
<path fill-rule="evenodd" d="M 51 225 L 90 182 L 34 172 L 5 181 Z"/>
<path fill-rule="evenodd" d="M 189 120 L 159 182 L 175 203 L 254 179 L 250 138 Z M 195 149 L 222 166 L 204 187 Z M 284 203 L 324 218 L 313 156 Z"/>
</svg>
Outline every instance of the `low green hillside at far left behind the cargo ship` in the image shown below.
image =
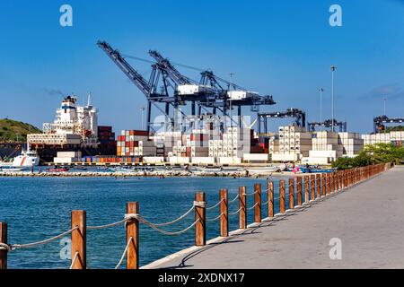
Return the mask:
<svg viewBox="0 0 404 287">
<path fill-rule="evenodd" d="M 42 131 L 30 124 L 8 118 L 0 119 L 0 143 L 24 142 L 27 134 L 37 133 Z"/>
</svg>

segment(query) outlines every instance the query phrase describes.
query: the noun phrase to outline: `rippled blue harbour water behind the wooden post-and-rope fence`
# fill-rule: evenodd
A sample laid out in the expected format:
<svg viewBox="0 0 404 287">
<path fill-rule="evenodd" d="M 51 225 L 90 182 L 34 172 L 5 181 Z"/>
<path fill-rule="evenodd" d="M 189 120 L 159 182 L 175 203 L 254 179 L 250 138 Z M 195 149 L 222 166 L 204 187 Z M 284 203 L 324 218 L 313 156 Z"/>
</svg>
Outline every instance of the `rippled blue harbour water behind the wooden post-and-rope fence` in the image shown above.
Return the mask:
<svg viewBox="0 0 404 287">
<path fill-rule="evenodd" d="M 0 221 L 8 222 L 11 244 L 23 244 L 57 235 L 70 229 L 70 212 L 87 212 L 87 225 L 119 221 L 126 212 L 127 202 L 139 202 L 140 213 L 151 222 L 168 222 L 189 210 L 195 192 L 206 192 L 210 205 L 218 201 L 218 190 L 229 189 L 229 199 L 238 193 L 238 187 L 253 191 L 254 183 L 267 188 L 265 179 L 252 178 L 0 178 Z M 275 197 L 277 197 L 277 179 Z M 286 192 L 287 194 L 287 192 Z M 248 205 L 253 205 L 248 196 Z M 262 201 L 267 201 L 264 193 Z M 287 201 L 286 201 L 287 203 Z M 230 205 L 229 212 L 238 209 L 238 202 Z M 276 212 L 278 206 L 276 201 Z M 253 221 L 253 210 L 248 222 Z M 267 208 L 263 207 L 263 215 Z M 219 214 L 218 208 L 207 211 L 207 218 Z M 265 217 L 265 216 L 263 216 Z M 163 227 L 181 230 L 194 222 L 194 213 L 182 222 Z M 218 222 L 207 222 L 207 239 L 219 234 Z M 238 215 L 230 217 L 230 230 L 238 228 Z M 125 246 L 123 225 L 106 230 L 88 230 L 87 258 L 90 268 L 114 268 Z M 67 239 L 69 236 L 66 237 Z M 147 226 L 140 227 L 140 265 L 170 255 L 194 243 L 194 229 L 180 236 L 164 236 Z M 9 254 L 9 268 L 68 268 L 70 260 L 62 259 L 64 247 L 57 240 L 39 248 L 15 250 Z"/>
</svg>

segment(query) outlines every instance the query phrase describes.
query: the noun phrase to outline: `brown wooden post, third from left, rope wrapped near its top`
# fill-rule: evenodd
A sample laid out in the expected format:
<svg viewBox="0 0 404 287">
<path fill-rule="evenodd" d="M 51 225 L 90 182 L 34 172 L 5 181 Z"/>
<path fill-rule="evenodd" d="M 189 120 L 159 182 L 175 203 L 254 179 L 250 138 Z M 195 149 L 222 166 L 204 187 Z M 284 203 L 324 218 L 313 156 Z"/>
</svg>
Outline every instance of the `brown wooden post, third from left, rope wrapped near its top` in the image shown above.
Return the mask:
<svg viewBox="0 0 404 287">
<path fill-rule="evenodd" d="M 138 203 L 127 203 L 127 214 L 138 214 Z M 127 242 L 132 238 L 129 246 L 127 247 L 127 269 L 139 268 L 139 221 L 131 219 L 127 221 Z"/>
</svg>

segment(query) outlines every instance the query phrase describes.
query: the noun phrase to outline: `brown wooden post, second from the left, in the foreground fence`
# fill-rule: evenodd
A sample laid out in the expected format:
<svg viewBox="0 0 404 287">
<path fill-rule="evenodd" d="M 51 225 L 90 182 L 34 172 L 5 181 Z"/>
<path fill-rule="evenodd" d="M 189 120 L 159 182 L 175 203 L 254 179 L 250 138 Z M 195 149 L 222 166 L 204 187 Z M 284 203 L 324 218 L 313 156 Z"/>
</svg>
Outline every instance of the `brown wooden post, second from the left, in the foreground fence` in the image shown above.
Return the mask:
<svg viewBox="0 0 404 287">
<path fill-rule="evenodd" d="M 86 213 L 83 210 L 72 211 L 72 229 L 75 227 L 78 229 L 72 232 L 72 261 L 75 258 L 75 253 L 78 252 L 78 256 L 75 259 L 73 269 L 86 269 Z"/>
</svg>

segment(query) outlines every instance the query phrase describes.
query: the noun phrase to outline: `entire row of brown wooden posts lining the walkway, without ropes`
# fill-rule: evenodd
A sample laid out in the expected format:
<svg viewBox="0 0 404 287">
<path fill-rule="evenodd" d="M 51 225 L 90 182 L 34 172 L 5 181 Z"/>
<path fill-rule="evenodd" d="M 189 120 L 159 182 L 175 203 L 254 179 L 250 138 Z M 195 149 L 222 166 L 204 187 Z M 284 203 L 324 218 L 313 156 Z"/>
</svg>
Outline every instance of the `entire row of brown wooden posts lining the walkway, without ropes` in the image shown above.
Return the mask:
<svg viewBox="0 0 404 287">
<path fill-rule="evenodd" d="M 288 209 L 293 210 L 294 196 L 297 196 L 297 205 L 308 203 L 311 200 L 321 198 L 338 192 L 346 187 L 351 187 L 356 183 L 371 178 L 374 175 L 381 173 L 390 168 L 390 165 L 378 164 L 363 168 L 355 168 L 349 170 L 340 170 L 329 173 L 312 174 L 303 177 L 288 179 L 289 203 Z M 303 182 L 304 181 L 304 182 Z M 303 185 L 304 183 L 304 185 Z M 295 192 L 296 190 L 296 192 Z M 274 183 L 268 181 L 268 218 L 274 217 L 275 214 L 275 198 L 274 198 Z M 261 185 L 254 185 L 254 222 L 262 222 L 261 213 Z M 229 200 L 227 189 L 221 189 L 220 193 L 220 236 L 229 236 Z M 246 187 L 239 187 L 239 228 L 247 228 L 247 194 Z M 286 212 L 285 203 L 285 179 L 279 180 L 279 213 Z M 205 193 L 197 192 L 195 196 L 197 203 L 205 203 Z M 139 213 L 139 204 L 136 202 L 127 203 L 127 214 Z M 206 206 L 204 204 L 195 205 L 195 245 L 206 245 Z M 78 256 L 73 264 L 73 269 L 86 269 L 86 213 L 83 210 L 72 211 L 71 226 L 73 230 L 72 236 L 72 260 L 76 253 Z M 127 269 L 137 269 L 139 267 L 139 222 L 136 219 L 127 221 L 127 242 L 132 238 L 127 247 Z M 7 243 L 7 223 L 0 222 L 0 242 Z M 7 267 L 7 251 L 0 250 L 0 269 Z"/>
</svg>

